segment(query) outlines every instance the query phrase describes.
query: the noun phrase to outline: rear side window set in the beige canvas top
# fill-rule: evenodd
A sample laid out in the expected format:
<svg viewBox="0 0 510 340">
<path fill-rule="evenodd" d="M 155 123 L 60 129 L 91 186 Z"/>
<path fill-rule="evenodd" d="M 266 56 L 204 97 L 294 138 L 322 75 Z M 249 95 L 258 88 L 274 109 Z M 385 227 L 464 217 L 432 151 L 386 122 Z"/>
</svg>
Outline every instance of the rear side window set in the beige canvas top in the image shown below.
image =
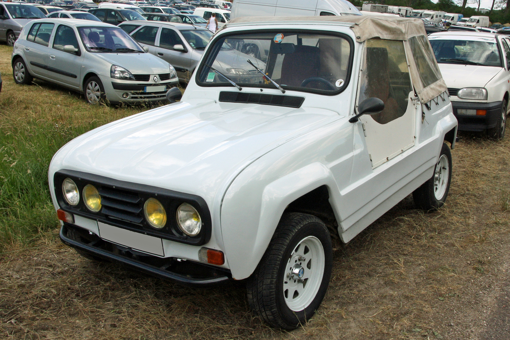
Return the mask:
<svg viewBox="0 0 510 340">
<path fill-rule="evenodd" d="M 430 44 L 424 35 L 409 38 L 413 58 L 420 74 L 423 87 L 427 87 L 441 78 L 437 63 L 433 60 Z"/>
</svg>

